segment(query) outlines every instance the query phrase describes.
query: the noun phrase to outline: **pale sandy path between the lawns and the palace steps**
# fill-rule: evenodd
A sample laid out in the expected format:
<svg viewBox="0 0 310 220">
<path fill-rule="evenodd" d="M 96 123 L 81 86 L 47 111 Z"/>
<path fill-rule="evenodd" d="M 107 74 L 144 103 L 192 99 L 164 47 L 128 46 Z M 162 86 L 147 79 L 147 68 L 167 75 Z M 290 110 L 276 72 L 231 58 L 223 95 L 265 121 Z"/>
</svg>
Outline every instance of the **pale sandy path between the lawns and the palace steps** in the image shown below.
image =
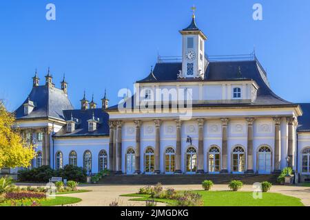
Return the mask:
<svg viewBox="0 0 310 220">
<path fill-rule="evenodd" d="M 22 185 L 22 184 L 19 184 Z M 70 196 L 81 198 L 82 201 L 70 206 L 109 206 L 113 201 L 117 201 L 119 206 L 145 206 L 144 201 L 129 201 L 132 197 L 120 197 L 123 194 L 138 192 L 138 188 L 143 186 L 100 186 L 89 185 L 80 186 L 80 189 L 92 190 L 91 192 L 81 192 L 59 196 Z M 201 185 L 169 185 L 164 186 L 175 188 L 176 190 L 201 190 Z M 229 190 L 227 185 L 214 185 L 212 190 Z M 252 191 L 252 185 L 244 185 L 242 191 Z M 298 197 L 305 206 L 310 206 L 310 187 L 303 186 L 272 186 L 270 192 L 279 192 L 283 195 Z M 165 203 L 157 203 L 157 206 L 165 206 Z"/>
</svg>

